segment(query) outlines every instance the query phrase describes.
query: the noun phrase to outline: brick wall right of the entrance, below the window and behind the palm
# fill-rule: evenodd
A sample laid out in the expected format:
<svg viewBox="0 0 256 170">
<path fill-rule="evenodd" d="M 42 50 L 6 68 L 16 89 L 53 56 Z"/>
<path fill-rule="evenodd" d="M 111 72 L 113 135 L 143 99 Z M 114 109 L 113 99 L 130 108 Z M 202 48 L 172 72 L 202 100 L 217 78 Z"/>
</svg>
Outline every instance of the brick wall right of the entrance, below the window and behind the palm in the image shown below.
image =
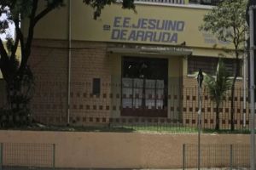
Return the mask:
<svg viewBox="0 0 256 170">
<path fill-rule="evenodd" d="M 244 113 L 246 116 L 246 128 L 249 127 L 249 103 L 246 99 L 246 109 L 243 109 L 243 88 L 242 80 L 236 80 L 235 89 L 235 115 L 234 122 L 236 128 L 241 128 L 243 126 Z M 195 77 L 183 77 L 183 122 L 189 126 L 195 126 L 198 122 L 198 90 L 197 82 Z M 216 106 L 212 101 L 211 97 L 207 93 L 206 88 L 202 90 L 202 126 L 208 128 L 215 127 L 215 113 Z M 225 96 L 222 105 L 220 105 L 220 128 L 229 129 L 230 128 L 230 107 L 231 98 L 230 92 Z"/>
</svg>

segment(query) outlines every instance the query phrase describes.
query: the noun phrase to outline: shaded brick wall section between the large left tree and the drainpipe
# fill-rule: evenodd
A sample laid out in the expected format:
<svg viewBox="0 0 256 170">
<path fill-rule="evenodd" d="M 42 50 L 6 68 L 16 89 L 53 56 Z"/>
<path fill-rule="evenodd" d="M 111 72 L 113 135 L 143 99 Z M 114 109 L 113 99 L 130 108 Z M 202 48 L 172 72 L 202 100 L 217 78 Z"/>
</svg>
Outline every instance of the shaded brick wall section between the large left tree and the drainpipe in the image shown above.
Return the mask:
<svg viewBox="0 0 256 170">
<path fill-rule="evenodd" d="M 34 40 L 29 65 L 35 77 L 32 114 L 39 122 L 67 120 L 67 42 Z"/>
</svg>

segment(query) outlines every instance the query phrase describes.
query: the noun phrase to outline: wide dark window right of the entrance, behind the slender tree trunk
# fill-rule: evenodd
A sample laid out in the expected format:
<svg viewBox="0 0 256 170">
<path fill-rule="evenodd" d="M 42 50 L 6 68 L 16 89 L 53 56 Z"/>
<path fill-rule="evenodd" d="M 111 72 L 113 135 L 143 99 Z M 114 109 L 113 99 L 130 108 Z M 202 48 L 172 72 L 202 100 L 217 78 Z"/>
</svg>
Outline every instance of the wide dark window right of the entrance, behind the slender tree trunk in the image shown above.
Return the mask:
<svg viewBox="0 0 256 170">
<path fill-rule="evenodd" d="M 236 71 L 236 59 L 224 59 L 224 64 L 227 71 L 230 73 L 230 77 L 233 76 Z M 188 58 L 188 74 L 193 74 L 195 71 L 201 69 L 207 74 L 214 76 L 216 74 L 217 65 L 218 58 L 191 56 Z M 239 65 L 240 72 L 238 76 L 241 77 L 241 60 Z"/>
</svg>

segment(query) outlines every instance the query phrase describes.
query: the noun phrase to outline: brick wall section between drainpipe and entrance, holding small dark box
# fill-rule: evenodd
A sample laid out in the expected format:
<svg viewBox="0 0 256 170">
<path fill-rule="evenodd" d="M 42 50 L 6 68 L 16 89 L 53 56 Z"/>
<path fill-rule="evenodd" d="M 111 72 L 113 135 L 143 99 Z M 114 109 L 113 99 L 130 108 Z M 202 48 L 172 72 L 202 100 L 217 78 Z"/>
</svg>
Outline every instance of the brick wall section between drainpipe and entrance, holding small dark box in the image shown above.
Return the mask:
<svg viewBox="0 0 256 170">
<path fill-rule="evenodd" d="M 107 122 L 110 114 L 111 73 L 105 43 L 73 42 L 71 117 L 77 125 Z M 100 78 L 101 94 L 92 94 L 93 78 Z"/>
</svg>

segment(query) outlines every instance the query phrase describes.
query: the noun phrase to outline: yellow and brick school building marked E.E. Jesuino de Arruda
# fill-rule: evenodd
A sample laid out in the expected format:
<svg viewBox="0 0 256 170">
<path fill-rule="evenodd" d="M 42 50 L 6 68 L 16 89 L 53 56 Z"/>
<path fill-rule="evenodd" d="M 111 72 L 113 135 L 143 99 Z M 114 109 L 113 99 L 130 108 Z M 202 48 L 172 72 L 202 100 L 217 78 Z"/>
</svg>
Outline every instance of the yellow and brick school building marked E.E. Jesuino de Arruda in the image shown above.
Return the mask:
<svg viewBox="0 0 256 170">
<path fill-rule="evenodd" d="M 94 20 L 83 1 L 67 1 L 40 20 L 29 60 L 36 78 L 31 108 L 38 122 L 106 125 L 132 118 L 196 125 L 193 73 L 202 69 L 213 75 L 220 55 L 235 71 L 234 56 L 223 50 L 232 51 L 232 44 L 199 31 L 217 1 L 135 3 L 136 12 L 117 3 Z M 236 82 L 236 126 L 248 126 L 244 75 L 241 69 Z M 203 95 L 202 123 L 214 127 L 214 103 L 206 90 Z M 220 112 L 221 127 L 228 128 L 230 96 Z"/>
</svg>

